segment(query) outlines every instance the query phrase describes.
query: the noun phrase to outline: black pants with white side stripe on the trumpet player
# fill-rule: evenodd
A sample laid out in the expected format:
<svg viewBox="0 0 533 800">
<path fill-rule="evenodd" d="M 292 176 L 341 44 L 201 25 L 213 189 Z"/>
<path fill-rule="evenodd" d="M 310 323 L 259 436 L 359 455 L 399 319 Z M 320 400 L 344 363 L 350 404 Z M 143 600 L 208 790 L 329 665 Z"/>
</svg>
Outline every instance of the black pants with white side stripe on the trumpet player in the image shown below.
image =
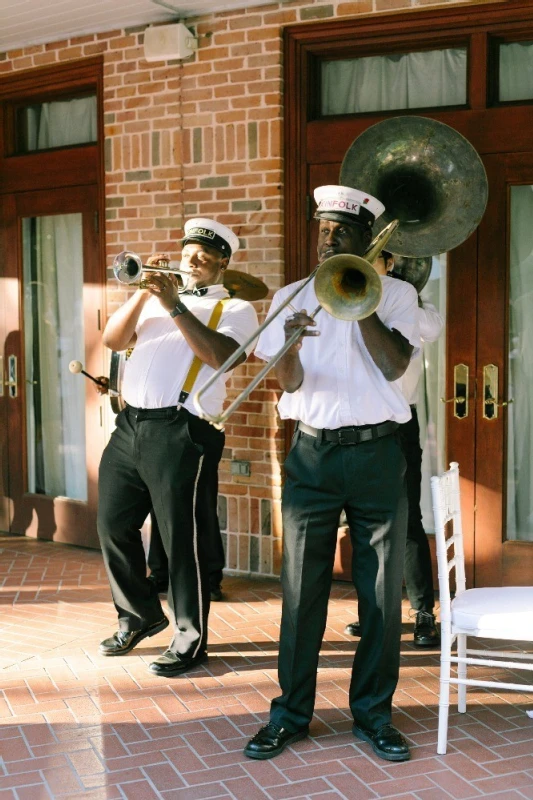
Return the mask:
<svg viewBox="0 0 533 800">
<path fill-rule="evenodd" d="M 139 630 L 163 616 L 146 577 L 140 531 L 153 508 L 169 561 L 175 629 L 170 648 L 192 657 L 205 650 L 209 613 L 207 556 L 195 524 L 195 498 L 204 454 L 221 454 L 223 434 L 176 408 L 127 407 L 116 426 L 100 463 L 98 534 L 119 627 Z"/>
</svg>

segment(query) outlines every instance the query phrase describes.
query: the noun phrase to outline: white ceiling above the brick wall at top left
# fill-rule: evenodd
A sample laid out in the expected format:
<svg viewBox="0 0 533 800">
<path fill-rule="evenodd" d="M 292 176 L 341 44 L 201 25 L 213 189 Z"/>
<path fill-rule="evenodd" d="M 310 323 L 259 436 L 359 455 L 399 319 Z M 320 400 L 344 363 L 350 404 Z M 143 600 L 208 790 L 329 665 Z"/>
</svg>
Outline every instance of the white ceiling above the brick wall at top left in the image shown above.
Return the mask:
<svg viewBox="0 0 533 800">
<path fill-rule="evenodd" d="M 152 0 L 0 0 L 0 53 L 70 36 L 252 8 L 271 4 L 272 0 L 161 2 L 165 5 Z"/>
</svg>

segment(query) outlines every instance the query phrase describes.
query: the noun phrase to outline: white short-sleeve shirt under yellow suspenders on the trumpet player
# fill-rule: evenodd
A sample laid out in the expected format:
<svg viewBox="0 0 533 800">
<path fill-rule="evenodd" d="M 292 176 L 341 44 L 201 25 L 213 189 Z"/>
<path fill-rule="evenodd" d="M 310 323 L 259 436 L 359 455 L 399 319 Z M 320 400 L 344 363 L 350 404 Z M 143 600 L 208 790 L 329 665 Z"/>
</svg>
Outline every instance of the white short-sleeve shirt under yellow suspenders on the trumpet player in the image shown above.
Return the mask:
<svg viewBox="0 0 533 800">
<path fill-rule="evenodd" d="M 182 296 L 182 302 L 194 316 L 207 325 L 217 302 L 229 298 L 221 284 L 209 286 L 205 295 Z M 257 329 L 257 314 L 251 303 L 236 298 L 224 303 L 217 332 L 241 345 Z M 177 405 L 180 392 L 189 372 L 194 353 L 180 329 L 159 300 L 151 297 L 144 306 L 135 329 L 137 341 L 126 361 L 122 396 L 135 408 L 166 408 Z M 249 355 L 253 343 L 247 348 Z M 214 370 L 203 364 L 194 389 L 183 403 L 195 416 L 193 395 L 211 377 Z M 210 414 L 219 414 L 226 397 L 226 381 L 231 371 L 221 375 L 205 393 L 202 403 Z"/>
</svg>

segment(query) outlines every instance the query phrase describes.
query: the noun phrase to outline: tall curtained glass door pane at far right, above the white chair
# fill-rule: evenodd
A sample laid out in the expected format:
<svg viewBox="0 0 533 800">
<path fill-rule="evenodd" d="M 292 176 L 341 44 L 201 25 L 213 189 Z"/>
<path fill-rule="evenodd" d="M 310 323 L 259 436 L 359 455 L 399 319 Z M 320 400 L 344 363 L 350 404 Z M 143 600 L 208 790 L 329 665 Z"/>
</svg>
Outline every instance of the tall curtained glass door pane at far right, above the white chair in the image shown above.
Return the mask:
<svg viewBox="0 0 533 800">
<path fill-rule="evenodd" d="M 511 186 L 507 539 L 533 542 L 533 186 Z M 507 398 L 506 398 L 507 399 Z"/>
</svg>

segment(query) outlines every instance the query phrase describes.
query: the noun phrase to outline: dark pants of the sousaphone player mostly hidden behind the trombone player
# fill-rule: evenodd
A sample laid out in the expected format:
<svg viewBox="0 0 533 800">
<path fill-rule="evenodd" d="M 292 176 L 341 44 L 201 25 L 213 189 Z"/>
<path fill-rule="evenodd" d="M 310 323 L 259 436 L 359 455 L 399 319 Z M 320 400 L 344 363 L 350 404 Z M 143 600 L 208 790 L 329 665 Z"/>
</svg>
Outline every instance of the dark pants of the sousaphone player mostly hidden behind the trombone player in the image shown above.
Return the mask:
<svg viewBox="0 0 533 800">
<path fill-rule="evenodd" d="M 415 611 L 433 613 L 435 592 L 431 569 L 431 552 L 427 534 L 422 525 L 420 510 L 420 487 L 422 483 L 422 448 L 420 426 L 416 407 L 411 406 L 413 416 L 398 428 L 403 454 L 407 462 L 407 499 L 409 516 L 405 545 L 404 578 L 411 607 Z"/>
</svg>

